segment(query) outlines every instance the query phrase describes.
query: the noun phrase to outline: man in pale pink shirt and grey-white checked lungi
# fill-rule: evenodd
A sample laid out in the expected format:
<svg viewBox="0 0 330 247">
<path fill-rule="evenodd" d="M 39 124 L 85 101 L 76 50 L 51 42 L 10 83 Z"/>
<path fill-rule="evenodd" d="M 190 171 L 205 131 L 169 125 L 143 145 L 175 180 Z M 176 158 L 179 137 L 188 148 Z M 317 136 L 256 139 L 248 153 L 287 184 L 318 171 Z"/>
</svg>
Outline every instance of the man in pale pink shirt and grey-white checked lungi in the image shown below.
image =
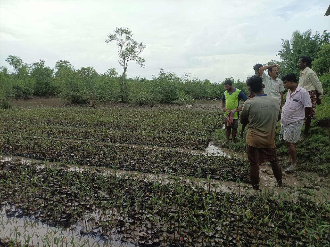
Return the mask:
<svg viewBox="0 0 330 247">
<path fill-rule="evenodd" d="M 294 171 L 298 169 L 296 142 L 300 138 L 304 120 L 310 115 L 312 102 L 308 91 L 298 85 L 295 74 L 286 74 L 281 79 L 288 92 L 282 109 L 280 141 L 285 141 L 289 152 L 286 163 L 291 163 L 285 171 Z"/>
</svg>

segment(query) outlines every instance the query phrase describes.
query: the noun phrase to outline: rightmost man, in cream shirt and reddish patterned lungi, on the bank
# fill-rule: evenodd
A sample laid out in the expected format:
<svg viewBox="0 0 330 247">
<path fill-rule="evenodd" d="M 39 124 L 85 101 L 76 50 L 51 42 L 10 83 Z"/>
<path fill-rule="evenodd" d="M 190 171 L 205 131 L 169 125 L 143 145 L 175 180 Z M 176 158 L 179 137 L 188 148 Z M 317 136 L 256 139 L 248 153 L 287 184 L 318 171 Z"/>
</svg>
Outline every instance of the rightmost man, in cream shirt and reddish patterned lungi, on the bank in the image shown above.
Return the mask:
<svg viewBox="0 0 330 247">
<path fill-rule="evenodd" d="M 311 118 L 315 116 L 316 104 L 320 105 L 323 96 L 323 88 L 320 80 L 318 80 L 316 73 L 309 68 L 311 66 L 311 58 L 309 56 L 301 56 L 298 60 L 298 67 L 301 69 L 299 74 L 299 86 L 305 88 L 312 101 L 312 110 L 309 116 L 307 116 L 305 123 L 305 131 L 302 139 L 308 136 L 308 131 L 311 126 Z"/>
</svg>

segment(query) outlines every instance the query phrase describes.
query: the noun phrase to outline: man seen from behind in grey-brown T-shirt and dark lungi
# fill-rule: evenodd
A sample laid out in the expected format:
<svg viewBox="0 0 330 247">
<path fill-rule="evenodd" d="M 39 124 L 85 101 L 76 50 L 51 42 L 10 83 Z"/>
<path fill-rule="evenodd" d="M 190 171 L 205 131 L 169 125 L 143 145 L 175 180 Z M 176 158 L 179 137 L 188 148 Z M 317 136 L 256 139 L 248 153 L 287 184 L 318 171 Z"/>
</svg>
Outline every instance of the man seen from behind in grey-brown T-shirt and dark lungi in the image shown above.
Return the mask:
<svg viewBox="0 0 330 247">
<path fill-rule="evenodd" d="M 281 104 L 278 98 L 264 93 L 260 76 L 254 75 L 247 81 L 255 97 L 245 101 L 241 123 L 248 123 L 246 148 L 252 187 L 255 190 L 259 189 L 259 165 L 267 161 L 271 163 L 277 184 L 281 186 L 282 169 L 275 146 L 276 125 L 281 119 Z"/>
</svg>

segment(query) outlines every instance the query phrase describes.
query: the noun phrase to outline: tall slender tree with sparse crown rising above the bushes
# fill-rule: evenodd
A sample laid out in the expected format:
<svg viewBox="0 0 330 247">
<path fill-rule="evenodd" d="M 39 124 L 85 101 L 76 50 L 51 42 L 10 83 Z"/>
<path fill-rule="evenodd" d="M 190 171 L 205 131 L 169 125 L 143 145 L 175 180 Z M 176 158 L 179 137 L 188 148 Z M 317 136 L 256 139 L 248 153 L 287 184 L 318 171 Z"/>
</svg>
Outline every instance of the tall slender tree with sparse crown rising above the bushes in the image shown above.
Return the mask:
<svg viewBox="0 0 330 247">
<path fill-rule="evenodd" d="M 140 53 L 146 46 L 143 43 L 138 43 L 132 39 L 132 31 L 128 28 L 117 27 L 114 31 L 114 34 L 108 35 L 109 39 L 106 39 L 105 42 L 111 44 L 116 41 L 118 45 L 118 55 L 119 55 L 119 65 L 123 67 L 123 76 L 122 76 L 122 93 L 123 100 L 127 101 L 126 89 L 125 89 L 125 78 L 127 71 L 127 63 L 130 60 L 135 60 L 137 64 L 140 64 L 141 67 L 144 67 L 145 59 L 140 56 Z"/>
</svg>

